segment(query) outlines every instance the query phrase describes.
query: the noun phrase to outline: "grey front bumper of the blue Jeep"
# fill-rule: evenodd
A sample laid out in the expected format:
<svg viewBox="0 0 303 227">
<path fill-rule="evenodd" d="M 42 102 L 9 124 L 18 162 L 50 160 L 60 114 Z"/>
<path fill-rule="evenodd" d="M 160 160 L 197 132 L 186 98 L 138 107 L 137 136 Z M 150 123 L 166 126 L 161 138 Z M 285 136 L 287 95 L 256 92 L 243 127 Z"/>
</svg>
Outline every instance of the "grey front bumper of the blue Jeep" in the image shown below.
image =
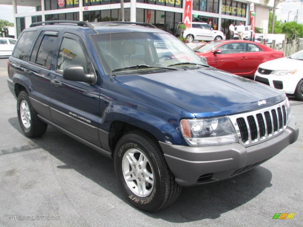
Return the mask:
<svg viewBox="0 0 303 227">
<path fill-rule="evenodd" d="M 253 146 L 179 146 L 160 142 L 165 160 L 180 186 L 195 186 L 243 173 L 278 154 L 298 139 L 294 117 L 279 136 Z"/>
</svg>

